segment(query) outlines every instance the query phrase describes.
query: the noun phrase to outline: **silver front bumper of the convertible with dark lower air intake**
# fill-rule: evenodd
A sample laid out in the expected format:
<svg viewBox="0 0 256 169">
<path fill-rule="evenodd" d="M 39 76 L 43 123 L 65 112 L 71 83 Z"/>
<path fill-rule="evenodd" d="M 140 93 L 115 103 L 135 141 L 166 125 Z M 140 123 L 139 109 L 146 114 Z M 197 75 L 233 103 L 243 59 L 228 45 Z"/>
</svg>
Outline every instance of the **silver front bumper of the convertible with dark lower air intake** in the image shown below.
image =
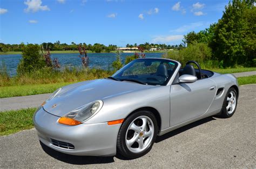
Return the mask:
<svg viewBox="0 0 256 169">
<path fill-rule="evenodd" d="M 116 154 L 117 134 L 121 124 L 107 125 L 105 122 L 69 126 L 59 124 L 58 119 L 58 116 L 46 112 L 42 107 L 33 116 L 39 140 L 46 146 L 77 156 Z M 56 145 L 56 140 L 57 143 L 61 143 L 60 146 Z"/>
</svg>

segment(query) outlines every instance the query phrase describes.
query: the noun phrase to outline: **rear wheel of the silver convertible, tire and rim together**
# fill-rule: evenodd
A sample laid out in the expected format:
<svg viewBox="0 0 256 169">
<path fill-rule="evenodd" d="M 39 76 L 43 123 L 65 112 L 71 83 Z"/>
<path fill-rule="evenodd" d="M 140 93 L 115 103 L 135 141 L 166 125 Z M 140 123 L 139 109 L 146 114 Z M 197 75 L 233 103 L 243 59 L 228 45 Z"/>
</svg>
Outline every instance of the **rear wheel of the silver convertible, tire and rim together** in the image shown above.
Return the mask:
<svg viewBox="0 0 256 169">
<path fill-rule="evenodd" d="M 235 110 L 237 109 L 237 99 L 237 91 L 233 87 L 228 89 L 227 94 L 224 98 L 221 110 L 221 117 L 229 118 L 233 116 Z"/>
</svg>

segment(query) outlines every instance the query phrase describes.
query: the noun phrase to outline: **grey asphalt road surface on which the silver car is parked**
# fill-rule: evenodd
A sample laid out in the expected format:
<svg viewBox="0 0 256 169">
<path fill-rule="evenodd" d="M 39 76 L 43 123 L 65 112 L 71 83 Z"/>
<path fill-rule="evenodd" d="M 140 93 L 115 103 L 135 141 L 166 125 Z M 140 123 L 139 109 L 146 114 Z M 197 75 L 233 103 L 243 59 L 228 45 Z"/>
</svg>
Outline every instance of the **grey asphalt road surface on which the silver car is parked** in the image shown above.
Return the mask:
<svg viewBox="0 0 256 169">
<path fill-rule="evenodd" d="M 0 137 L 0 168 L 255 168 L 256 85 L 240 87 L 237 111 L 158 137 L 142 158 L 71 156 L 39 144 L 35 129 Z"/>
</svg>

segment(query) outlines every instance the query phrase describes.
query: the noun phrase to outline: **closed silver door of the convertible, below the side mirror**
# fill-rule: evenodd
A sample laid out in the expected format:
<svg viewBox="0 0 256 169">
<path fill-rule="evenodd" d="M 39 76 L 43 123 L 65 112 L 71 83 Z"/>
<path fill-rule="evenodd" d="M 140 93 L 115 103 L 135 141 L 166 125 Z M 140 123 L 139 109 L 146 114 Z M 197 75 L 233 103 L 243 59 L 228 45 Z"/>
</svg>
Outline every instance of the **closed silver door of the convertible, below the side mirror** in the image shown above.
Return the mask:
<svg viewBox="0 0 256 169">
<path fill-rule="evenodd" d="M 215 88 L 215 82 L 209 78 L 194 83 L 171 85 L 170 125 L 174 126 L 204 114 L 212 104 Z"/>
</svg>

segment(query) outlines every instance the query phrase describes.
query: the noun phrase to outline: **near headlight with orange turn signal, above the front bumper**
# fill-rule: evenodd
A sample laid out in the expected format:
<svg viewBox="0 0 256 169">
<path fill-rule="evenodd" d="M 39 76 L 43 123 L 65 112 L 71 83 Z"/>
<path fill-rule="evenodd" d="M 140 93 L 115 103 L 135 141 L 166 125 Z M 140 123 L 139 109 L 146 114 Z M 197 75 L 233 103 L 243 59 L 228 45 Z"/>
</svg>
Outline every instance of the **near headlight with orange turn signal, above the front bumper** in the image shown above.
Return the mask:
<svg viewBox="0 0 256 169">
<path fill-rule="evenodd" d="M 78 125 L 83 123 L 85 120 L 91 118 L 102 109 L 102 100 L 83 105 L 77 109 L 65 114 L 65 116 L 59 119 L 60 124 L 65 125 Z"/>
</svg>

